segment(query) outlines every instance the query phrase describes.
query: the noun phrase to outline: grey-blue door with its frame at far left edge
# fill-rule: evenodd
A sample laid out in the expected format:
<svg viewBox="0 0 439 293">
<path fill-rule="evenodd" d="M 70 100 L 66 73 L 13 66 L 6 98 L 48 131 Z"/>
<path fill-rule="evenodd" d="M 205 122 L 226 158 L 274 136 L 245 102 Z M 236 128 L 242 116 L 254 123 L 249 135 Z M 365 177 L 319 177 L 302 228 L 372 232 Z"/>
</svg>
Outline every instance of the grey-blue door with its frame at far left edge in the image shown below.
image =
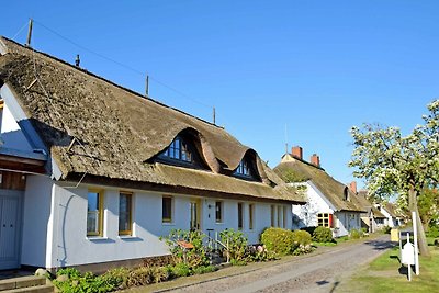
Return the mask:
<svg viewBox="0 0 439 293">
<path fill-rule="evenodd" d="M 20 199 L 18 192 L 0 190 L 0 270 L 20 264 Z"/>
</svg>

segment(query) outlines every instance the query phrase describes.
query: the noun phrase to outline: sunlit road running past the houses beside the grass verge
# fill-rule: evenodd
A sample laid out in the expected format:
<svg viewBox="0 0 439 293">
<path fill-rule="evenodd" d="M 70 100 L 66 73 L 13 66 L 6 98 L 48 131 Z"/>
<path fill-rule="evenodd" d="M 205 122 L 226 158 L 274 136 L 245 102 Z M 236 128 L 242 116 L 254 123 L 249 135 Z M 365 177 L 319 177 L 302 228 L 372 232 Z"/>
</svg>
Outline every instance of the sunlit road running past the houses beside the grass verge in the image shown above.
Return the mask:
<svg viewBox="0 0 439 293">
<path fill-rule="evenodd" d="M 286 263 L 207 281 L 170 292 L 338 292 L 356 269 L 392 247 L 389 235 Z M 168 291 L 169 292 L 169 291 Z"/>
</svg>

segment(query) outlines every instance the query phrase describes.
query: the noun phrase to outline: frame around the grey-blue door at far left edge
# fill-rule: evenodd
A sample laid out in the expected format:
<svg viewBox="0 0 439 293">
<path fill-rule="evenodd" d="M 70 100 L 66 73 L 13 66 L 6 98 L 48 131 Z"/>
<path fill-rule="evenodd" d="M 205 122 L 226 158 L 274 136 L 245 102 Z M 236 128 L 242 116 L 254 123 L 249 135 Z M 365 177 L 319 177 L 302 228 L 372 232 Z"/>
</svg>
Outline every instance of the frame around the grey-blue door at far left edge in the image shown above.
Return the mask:
<svg viewBox="0 0 439 293">
<path fill-rule="evenodd" d="M 16 206 L 16 232 L 15 232 L 15 246 L 16 246 L 16 258 L 11 261 L 0 261 L 0 270 L 19 269 L 21 267 L 21 249 L 22 249 L 22 232 L 23 232 L 23 199 L 24 191 L 20 190 L 7 190 L 0 189 L 0 198 L 15 198 L 19 200 Z M 0 211 L 1 216 L 1 211 Z"/>
</svg>

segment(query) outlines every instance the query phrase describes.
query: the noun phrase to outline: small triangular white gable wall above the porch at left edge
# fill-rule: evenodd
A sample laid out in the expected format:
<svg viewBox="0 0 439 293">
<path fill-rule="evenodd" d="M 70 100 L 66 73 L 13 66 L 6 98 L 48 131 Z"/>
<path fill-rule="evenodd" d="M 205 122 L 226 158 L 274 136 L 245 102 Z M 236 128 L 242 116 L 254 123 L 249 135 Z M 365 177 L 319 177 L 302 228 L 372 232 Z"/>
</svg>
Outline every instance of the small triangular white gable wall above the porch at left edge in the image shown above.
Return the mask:
<svg viewBox="0 0 439 293">
<path fill-rule="evenodd" d="M 24 151 L 32 151 L 32 147 L 29 144 L 26 137 L 21 131 L 19 124 L 15 119 L 12 116 L 11 111 L 8 108 L 8 104 L 3 105 L 3 113 L 0 115 L 1 117 L 1 138 L 3 139 L 3 147 L 20 149 Z"/>
</svg>

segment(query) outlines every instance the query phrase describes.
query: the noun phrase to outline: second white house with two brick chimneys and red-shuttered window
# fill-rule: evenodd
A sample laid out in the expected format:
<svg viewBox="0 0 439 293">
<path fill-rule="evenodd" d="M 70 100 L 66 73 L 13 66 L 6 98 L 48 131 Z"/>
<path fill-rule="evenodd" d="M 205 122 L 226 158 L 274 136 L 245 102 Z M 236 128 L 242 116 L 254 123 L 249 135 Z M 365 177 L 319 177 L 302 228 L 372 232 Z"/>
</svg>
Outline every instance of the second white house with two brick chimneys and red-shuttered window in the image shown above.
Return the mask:
<svg viewBox="0 0 439 293">
<path fill-rule="evenodd" d="M 293 147 L 274 168 L 285 182 L 306 194 L 305 205 L 293 205 L 293 227 L 324 226 L 331 228 L 335 237 L 361 228 L 360 217 L 365 211 L 358 205 L 357 195 L 322 168 L 317 155 L 309 162 L 302 155 L 301 147 Z"/>
</svg>

